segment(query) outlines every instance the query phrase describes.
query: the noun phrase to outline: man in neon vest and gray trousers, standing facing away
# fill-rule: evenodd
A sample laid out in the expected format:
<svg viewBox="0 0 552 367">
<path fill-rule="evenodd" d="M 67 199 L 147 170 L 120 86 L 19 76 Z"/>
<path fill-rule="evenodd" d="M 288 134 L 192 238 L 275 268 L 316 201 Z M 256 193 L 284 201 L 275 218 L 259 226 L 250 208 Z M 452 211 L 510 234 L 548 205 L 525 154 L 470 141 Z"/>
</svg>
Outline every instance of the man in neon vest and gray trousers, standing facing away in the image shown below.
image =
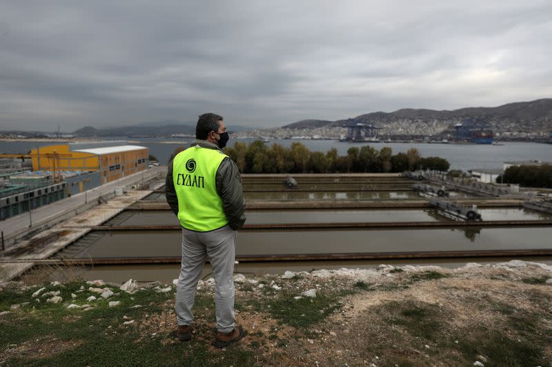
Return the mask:
<svg viewBox="0 0 552 367">
<path fill-rule="evenodd" d="M 190 147 L 168 165 L 165 195 L 182 227 L 182 262 L 175 311 L 181 341 L 192 337 L 195 291 L 206 256 L 215 277 L 217 337 L 223 348 L 244 335 L 234 317 L 236 231 L 246 220 L 242 179 L 233 160 L 221 149 L 228 132 L 217 114 L 202 114 Z"/>
</svg>

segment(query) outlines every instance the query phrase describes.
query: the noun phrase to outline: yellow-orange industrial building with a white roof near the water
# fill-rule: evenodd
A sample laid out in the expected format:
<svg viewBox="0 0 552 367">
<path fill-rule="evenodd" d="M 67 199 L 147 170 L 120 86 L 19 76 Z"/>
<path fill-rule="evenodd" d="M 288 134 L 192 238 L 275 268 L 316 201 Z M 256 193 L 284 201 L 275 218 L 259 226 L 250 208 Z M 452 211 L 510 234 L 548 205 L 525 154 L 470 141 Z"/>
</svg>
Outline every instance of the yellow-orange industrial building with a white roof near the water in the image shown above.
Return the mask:
<svg viewBox="0 0 552 367">
<path fill-rule="evenodd" d="M 33 171 L 99 171 L 101 183 L 148 169 L 149 149 L 117 143 L 75 143 L 32 149 Z M 106 146 L 107 145 L 107 146 Z"/>
</svg>

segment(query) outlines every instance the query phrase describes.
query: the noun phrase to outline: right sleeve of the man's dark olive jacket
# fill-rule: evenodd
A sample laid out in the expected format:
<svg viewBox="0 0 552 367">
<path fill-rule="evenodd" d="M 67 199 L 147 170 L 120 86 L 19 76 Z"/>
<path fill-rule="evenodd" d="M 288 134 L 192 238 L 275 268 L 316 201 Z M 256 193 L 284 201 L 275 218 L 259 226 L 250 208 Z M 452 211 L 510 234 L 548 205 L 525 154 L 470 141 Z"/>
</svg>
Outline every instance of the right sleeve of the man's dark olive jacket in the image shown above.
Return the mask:
<svg viewBox="0 0 552 367">
<path fill-rule="evenodd" d="M 234 231 L 242 228 L 246 222 L 246 200 L 242 189 L 242 177 L 233 160 L 224 158 L 215 176 L 217 193 L 222 198 L 222 205 L 228 225 Z"/>
</svg>

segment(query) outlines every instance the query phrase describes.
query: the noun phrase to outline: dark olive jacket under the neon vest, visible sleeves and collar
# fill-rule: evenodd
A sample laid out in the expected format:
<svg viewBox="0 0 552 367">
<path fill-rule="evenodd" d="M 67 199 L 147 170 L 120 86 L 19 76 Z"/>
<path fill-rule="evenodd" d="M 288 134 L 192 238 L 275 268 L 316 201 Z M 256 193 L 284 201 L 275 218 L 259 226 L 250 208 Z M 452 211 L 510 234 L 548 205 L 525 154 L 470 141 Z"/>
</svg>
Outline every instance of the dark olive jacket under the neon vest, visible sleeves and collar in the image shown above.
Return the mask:
<svg viewBox="0 0 552 367">
<path fill-rule="evenodd" d="M 194 140 L 190 146 L 199 145 L 209 149 L 219 149 L 217 145 L 206 140 Z M 220 149 L 219 149 L 220 150 Z M 217 193 L 222 198 L 222 205 L 228 225 L 234 231 L 242 228 L 246 221 L 246 201 L 242 189 L 242 177 L 239 176 L 239 169 L 233 160 L 224 158 L 215 176 Z M 178 214 L 178 198 L 175 190 L 175 182 L 172 180 L 172 160 L 168 164 L 167 178 L 165 182 L 165 196 L 170 209 Z"/>
</svg>

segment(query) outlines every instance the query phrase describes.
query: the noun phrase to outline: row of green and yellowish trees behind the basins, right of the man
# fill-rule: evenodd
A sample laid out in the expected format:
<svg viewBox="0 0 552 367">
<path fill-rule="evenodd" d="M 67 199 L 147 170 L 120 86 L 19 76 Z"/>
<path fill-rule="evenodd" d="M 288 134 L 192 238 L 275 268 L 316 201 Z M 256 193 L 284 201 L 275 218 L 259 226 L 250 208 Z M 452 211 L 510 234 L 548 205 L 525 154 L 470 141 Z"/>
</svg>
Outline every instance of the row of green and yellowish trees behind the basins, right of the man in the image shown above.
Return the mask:
<svg viewBox="0 0 552 367">
<path fill-rule="evenodd" d="M 450 167 L 446 159 L 423 158 L 415 148 L 393 155 L 390 147 L 378 151 L 365 145 L 350 147 L 345 156 L 339 156 L 335 148 L 324 154 L 322 151 L 310 151 L 299 142 L 284 147 L 276 143 L 268 146 L 261 140 L 255 140 L 249 145 L 237 142 L 224 152 L 244 174 L 387 173 L 416 169 L 448 171 Z"/>
</svg>

